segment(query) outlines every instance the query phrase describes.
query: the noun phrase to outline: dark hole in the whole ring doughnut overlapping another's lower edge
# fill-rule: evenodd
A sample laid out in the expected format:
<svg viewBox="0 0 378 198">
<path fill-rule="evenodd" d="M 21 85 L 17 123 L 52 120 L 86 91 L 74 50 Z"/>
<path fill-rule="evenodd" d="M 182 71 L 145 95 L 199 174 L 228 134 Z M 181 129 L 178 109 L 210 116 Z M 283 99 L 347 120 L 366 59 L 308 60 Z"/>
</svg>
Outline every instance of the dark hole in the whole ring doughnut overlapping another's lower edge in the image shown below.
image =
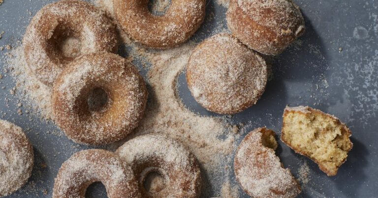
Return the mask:
<svg viewBox="0 0 378 198">
<path fill-rule="evenodd" d="M 108 103 L 108 94 L 101 87 L 96 87 L 88 95 L 88 109 L 91 112 L 98 112 L 105 108 Z"/>
</svg>

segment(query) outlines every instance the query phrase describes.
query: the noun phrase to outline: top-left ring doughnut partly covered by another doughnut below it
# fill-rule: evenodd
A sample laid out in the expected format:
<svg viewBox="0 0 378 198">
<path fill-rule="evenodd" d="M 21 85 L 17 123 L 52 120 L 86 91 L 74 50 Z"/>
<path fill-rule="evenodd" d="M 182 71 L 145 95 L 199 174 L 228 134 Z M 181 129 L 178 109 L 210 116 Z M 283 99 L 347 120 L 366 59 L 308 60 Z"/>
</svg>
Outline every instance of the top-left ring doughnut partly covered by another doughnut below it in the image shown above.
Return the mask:
<svg viewBox="0 0 378 198">
<path fill-rule="evenodd" d="M 117 52 L 118 38 L 116 26 L 95 6 L 79 0 L 60 0 L 38 11 L 23 44 L 34 75 L 52 86 L 75 57 Z"/>
</svg>

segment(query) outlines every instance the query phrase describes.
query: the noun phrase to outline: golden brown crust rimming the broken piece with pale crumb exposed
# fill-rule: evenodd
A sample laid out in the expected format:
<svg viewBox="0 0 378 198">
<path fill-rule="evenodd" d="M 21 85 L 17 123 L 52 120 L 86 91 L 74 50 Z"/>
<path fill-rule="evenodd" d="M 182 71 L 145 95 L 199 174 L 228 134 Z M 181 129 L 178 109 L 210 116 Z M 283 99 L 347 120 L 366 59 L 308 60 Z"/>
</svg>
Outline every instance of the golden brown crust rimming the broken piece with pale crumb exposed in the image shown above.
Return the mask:
<svg viewBox="0 0 378 198">
<path fill-rule="evenodd" d="M 285 117 L 287 116 L 288 113 L 300 113 L 300 114 L 303 114 L 303 115 L 308 115 L 309 113 L 318 113 L 318 114 L 321 114 L 321 115 L 326 116 L 329 119 L 333 120 L 337 125 L 341 125 L 342 128 L 344 129 L 344 131 L 343 131 L 345 133 L 344 135 L 347 136 L 348 138 L 352 134 L 351 131 L 349 130 L 349 128 L 347 127 L 347 125 L 345 123 L 341 122 L 337 117 L 335 117 L 335 116 L 333 116 L 331 114 L 328 114 L 328 113 L 321 112 L 320 110 L 317 110 L 317 109 L 313 109 L 313 108 L 310 108 L 310 107 L 303 107 L 303 106 L 293 107 L 293 108 L 286 107 L 285 110 L 284 110 L 284 115 L 283 115 L 284 119 L 285 119 Z M 304 156 L 310 158 L 311 160 L 313 160 L 319 166 L 319 169 L 322 170 L 323 172 L 325 172 L 328 176 L 334 176 L 334 175 L 336 175 L 337 171 L 341 167 L 341 165 L 343 165 L 344 162 L 347 161 L 347 158 L 345 158 L 336 167 L 336 171 L 329 170 L 320 161 L 318 161 L 317 159 L 311 157 L 310 153 L 302 151 L 302 150 L 298 149 L 296 146 L 293 146 L 292 144 L 290 144 L 290 142 L 288 142 L 286 140 L 286 131 L 284 130 L 284 128 L 285 128 L 285 121 L 283 121 L 281 141 L 283 141 L 287 146 L 289 146 L 291 149 L 293 149 L 296 153 L 304 155 Z M 350 149 L 352 149 L 352 147 L 353 147 L 353 143 L 350 140 L 348 142 L 348 146 L 347 147 L 348 147 L 348 149 L 346 150 L 346 152 L 349 152 Z"/>
</svg>

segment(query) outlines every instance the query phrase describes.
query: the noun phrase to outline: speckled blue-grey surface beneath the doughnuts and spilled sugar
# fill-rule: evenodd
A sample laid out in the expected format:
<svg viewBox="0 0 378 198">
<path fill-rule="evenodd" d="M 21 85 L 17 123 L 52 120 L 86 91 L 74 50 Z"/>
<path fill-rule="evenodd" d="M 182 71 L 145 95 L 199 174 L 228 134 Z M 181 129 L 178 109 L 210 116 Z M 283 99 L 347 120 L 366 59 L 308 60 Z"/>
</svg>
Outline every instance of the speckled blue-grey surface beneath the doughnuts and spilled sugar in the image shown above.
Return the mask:
<svg viewBox="0 0 378 198">
<path fill-rule="evenodd" d="M 0 5 L 0 32 L 5 33 L 0 46 L 16 45 L 36 11 L 53 1 L 4 0 Z M 327 177 L 315 163 L 295 154 L 282 142 L 278 155 L 296 176 L 300 165 L 309 164 L 311 180 L 301 197 L 378 197 L 378 2 L 295 1 L 305 17 L 306 33 L 282 55 L 272 59 L 274 79 L 268 83 L 262 99 L 232 119 L 235 123 L 250 122 L 250 129 L 266 125 L 279 134 L 286 105 L 309 105 L 335 114 L 350 127 L 354 143 L 337 176 Z M 215 19 L 207 20 L 199 32 L 212 32 L 212 25 L 219 22 L 226 27 L 225 11 L 215 0 L 208 1 L 207 17 L 214 13 Z M 192 39 L 203 38 L 203 34 L 197 32 Z M 6 52 L 0 51 L 0 57 Z M 51 197 L 54 177 L 61 164 L 73 153 L 88 147 L 68 140 L 56 126 L 41 120 L 35 113 L 25 113 L 25 107 L 17 108 L 17 97 L 9 94 L 15 86 L 12 79 L 2 69 L 0 74 L 3 76 L 0 87 L 5 86 L 0 89 L 0 116 L 26 130 L 35 153 L 29 183 L 9 198 Z M 180 96 L 189 109 L 214 115 L 193 100 L 184 75 L 179 78 L 179 85 Z M 24 114 L 17 114 L 18 109 Z M 47 164 L 47 168 L 42 168 L 41 164 Z M 43 194 L 44 190 L 47 195 Z M 248 197 L 242 192 L 241 195 Z M 106 193 L 103 186 L 97 184 L 89 188 L 88 196 L 106 197 Z"/>
</svg>

